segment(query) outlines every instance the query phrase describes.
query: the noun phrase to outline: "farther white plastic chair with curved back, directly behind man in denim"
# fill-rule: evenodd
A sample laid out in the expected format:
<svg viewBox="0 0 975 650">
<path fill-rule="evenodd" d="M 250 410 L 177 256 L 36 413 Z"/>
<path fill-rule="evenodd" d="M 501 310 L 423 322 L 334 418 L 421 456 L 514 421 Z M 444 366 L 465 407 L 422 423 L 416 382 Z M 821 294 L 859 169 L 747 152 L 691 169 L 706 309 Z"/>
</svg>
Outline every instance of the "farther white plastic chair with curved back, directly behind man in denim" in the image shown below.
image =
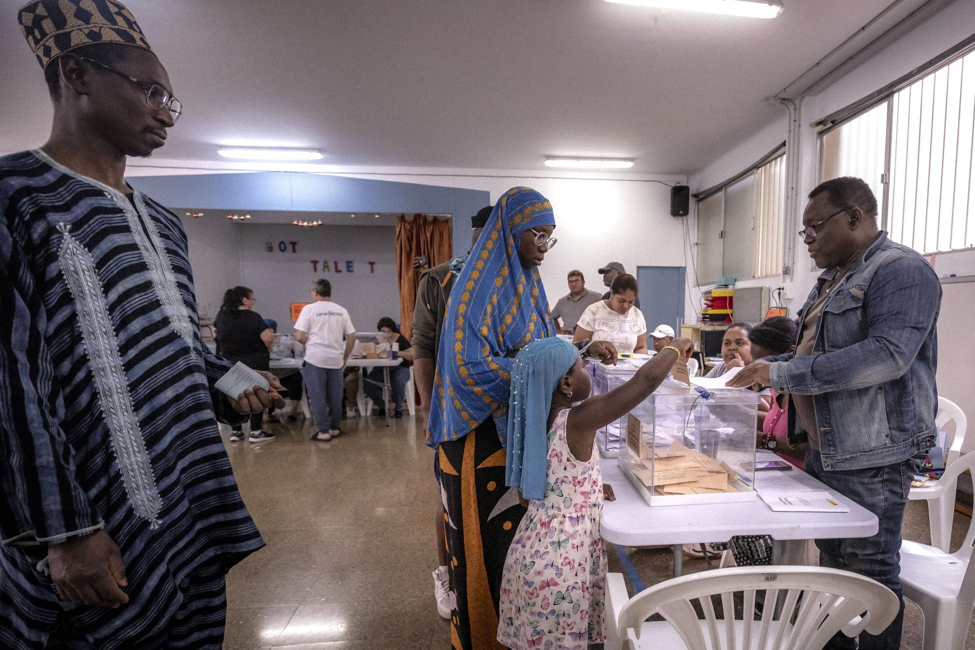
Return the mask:
<svg viewBox="0 0 975 650">
<path fill-rule="evenodd" d="M 949 432 L 951 437 L 945 440 L 945 447 L 948 449 L 945 454 L 946 473 L 948 468 L 961 458 L 961 445 L 965 441 L 965 429 L 968 427 L 968 420 L 955 402 L 944 397 L 938 397 L 938 416 L 935 418 L 934 424 L 944 429 L 951 422 L 955 423 L 955 433 L 952 435 Z M 946 553 L 951 551 L 952 520 L 955 518 L 955 493 L 956 481 L 951 481 L 949 485 L 949 482 L 942 476 L 936 481 L 912 488 L 909 496 L 912 501 L 921 499 L 927 501 L 927 515 L 931 524 L 931 546 L 940 548 Z"/>
</svg>

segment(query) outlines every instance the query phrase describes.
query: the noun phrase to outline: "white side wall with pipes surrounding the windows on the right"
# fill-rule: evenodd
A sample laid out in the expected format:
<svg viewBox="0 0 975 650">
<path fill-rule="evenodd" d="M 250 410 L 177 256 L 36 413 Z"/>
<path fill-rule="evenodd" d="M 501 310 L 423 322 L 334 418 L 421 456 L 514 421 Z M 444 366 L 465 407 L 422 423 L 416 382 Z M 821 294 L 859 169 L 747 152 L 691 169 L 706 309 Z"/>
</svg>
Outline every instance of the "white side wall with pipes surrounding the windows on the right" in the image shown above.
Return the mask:
<svg viewBox="0 0 975 650">
<path fill-rule="evenodd" d="M 902 34 L 896 41 L 879 50 L 870 59 L 861 62 L 816 95 L 803 99 L 800 113 L 800 215 L 799 219 L 787 224 L 787 234 L 799 231 L 801 210 L 806 202 L 805 196 L 816 183 L 817 137 L 816 130 L 810 124 L 849 103 L 862 99 L 907 74 L 924 61 L 948 50 L 971 35 L 973 24 L 975 24 L 975 2 L 957 0 L 919 23 L 909 32 Z M 786 136 L 787 121 L 785 108 L 783 108 L 781 119 L 766 125 L 731 151 L 716 158 L 708 167 L 692 174 L 689 179 L 691 191 L 720 183 L 741 172 L 773 146 L 783 142 Z M 794 234 L 792 236 L 795 237 L 797 250 L 795 262 L 790 263 L 788 260 L 786 262 L 793 265 L 791 276 L 746 280 L 740 282 L 739 286 L 762 284 L 773 288 L 785 286 L 786 295 L 789 297 L 786 304 L 795 313 L 795 310 L 804 303 L 820 271 L 811 268 L 805 247 L 801 245 L 798 236 Z M 951 273 L 973 275 L 975 274 L 975 251 L 940 254 L 934 267 L 941 276 Z M 700 292 L 692 290 L 688 295 L 688 303 L 696 303 L 699 296 Z"/>
</svg>

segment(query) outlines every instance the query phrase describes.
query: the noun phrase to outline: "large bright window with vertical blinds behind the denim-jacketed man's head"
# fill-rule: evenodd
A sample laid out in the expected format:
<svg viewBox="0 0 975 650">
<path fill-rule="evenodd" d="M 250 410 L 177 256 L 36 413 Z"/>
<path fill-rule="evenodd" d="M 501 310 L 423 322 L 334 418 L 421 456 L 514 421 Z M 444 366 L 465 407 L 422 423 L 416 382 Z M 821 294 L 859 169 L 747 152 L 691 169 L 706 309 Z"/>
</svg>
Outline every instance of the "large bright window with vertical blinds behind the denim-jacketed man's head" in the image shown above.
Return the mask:
<svg viewBox="0 0 975 650">
<path fill-rule="evenodd" d="M 821 177 L 862 178 L 881 227 L 920 253 L 975 246 L 975 52 L 820 136 Z"/>
</svg>

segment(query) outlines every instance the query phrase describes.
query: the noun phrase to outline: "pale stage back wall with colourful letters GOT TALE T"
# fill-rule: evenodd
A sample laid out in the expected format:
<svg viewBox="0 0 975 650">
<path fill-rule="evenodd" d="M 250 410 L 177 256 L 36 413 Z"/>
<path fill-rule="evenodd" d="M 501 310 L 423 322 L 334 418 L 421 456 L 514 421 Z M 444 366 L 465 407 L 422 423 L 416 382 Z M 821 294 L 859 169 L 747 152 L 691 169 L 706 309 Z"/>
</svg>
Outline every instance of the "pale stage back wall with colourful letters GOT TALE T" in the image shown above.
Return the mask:
<svg viewBox="0 0 975 650">
<path fill-rule="evenodd" d="M 310 302 L 312 283 L 324 277 L 331 282 L 332 300 L 349 310 L 359 331 L 374 331 L 381 316 L 399 320 L 395 227 L 327 224 L 298 229 L 291 223 L 207 217 L 183 218 L 183 225 L 201 314 L 215 315 L 223 292 L 242 284 L 254 290 L 254 310 L 278 321 L 279 332 L 291 333 L 290 305 Z M 285 252 L 279 242 L 285 242 Z M 352 262 L 352 272 L 347 262 Z"/>
</svg>

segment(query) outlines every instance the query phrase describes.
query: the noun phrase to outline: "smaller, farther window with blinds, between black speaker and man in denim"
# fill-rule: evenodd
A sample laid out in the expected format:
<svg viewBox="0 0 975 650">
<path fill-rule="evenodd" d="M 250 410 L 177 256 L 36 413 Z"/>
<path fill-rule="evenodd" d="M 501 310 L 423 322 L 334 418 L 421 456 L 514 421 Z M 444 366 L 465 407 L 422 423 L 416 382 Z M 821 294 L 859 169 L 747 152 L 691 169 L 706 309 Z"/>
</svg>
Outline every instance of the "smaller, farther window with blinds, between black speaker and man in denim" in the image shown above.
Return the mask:
<svg viewBox="0 0 975 650">
<path fill-rule="evenodd" d="M 716 188 L 697 204 L 697 277 L 782 272 L 786 157 L 779 154 Z"/>
</svg>

